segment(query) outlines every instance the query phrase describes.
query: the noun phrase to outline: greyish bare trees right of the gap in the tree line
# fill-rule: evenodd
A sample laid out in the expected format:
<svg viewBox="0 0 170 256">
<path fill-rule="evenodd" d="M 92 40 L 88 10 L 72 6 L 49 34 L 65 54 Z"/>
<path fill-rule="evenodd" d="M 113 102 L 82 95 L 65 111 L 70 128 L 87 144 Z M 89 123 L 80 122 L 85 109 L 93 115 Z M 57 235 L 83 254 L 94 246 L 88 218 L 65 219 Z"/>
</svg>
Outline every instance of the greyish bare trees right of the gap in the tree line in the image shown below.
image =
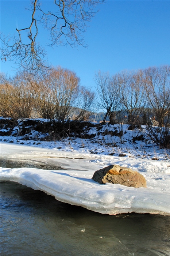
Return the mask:
<svg viewBox="0 0 170 256">
<path fill-rule="evenodd" d="M 98 107 L 111 124 L 119 123 L 123 114 L 128 124 L 146 124 L 157 120 L 157 126 L 170 123 L 170 66 L 123 71 L 111 76 L 95 74 Z"/>
</svg>

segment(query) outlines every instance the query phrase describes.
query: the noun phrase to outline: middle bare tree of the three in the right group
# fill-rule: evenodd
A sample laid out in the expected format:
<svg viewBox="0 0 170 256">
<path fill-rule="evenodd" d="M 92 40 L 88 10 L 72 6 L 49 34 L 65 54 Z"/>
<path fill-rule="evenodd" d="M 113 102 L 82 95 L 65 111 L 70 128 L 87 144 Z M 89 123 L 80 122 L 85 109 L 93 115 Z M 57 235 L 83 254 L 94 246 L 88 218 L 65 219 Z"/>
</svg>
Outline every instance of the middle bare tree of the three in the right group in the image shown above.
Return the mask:
<svg viewBox="0 0 170 256">
<path fill-rule="evenodd" d="M 143 71 L 124 71 L 120 74 L 121 101 L 128 116 L 128 124 L 138 124 L 145 103 L 142 83 Z"/>
</svg>

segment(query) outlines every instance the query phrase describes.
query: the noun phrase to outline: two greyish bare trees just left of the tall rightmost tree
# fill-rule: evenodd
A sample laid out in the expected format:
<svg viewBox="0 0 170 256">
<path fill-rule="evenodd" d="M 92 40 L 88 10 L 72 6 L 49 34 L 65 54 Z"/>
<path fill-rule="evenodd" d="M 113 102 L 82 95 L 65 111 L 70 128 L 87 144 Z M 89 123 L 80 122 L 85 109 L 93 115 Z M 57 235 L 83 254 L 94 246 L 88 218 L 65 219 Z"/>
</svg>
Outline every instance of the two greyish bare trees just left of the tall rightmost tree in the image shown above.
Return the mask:
<svg viewBox="0 0 170 256">
<path fill-rule="evenodd" d="M 142 75 L 140 70 L 113 76 L 101 72 L 95 75 L 100 98 L 98 106 L 106 112 L 105 118 L 108 116 L 111 124 L 122 122 L 124 115 L 128 116 L 128 124 L 138 123 L 146 101 Z"/>
</svg>

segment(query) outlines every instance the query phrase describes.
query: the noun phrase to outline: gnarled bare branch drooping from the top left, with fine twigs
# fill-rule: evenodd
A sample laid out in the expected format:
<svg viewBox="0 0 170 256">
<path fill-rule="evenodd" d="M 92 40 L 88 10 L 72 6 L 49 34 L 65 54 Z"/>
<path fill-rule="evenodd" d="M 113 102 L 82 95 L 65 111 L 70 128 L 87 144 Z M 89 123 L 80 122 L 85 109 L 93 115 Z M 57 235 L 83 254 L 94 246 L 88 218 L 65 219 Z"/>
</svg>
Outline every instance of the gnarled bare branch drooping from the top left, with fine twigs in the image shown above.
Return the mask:
<svg viewBox="0 0 170 256">
<path fill-rule="evenodd" d="M 48 66 L 44 49 L 35 42 L 38 35 L 38 26 L 35 19 L 37 2 L 38 0 L 32 2 L 33 10 L 29 27 L 16 29 L 17 35 L 14 35 L 13 38 L 2 37 L 1 35 L 1 41 L 3 42 L 1 59 L 13 59 L 19 67 L 32 71 Z"/>
</svg>

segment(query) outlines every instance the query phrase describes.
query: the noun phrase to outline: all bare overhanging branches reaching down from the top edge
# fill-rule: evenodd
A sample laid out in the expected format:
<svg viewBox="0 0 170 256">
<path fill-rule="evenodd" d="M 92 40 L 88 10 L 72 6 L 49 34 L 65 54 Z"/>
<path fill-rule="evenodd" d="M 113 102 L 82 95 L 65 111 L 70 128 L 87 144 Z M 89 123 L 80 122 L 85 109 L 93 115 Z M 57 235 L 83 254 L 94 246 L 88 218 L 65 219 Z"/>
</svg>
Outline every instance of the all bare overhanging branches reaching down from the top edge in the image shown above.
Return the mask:
<svg viewBox="0 0 170 256">
<path fill-rule="evenodd" d="M 3 48 L 1 60 L 8 58 L 25 69 L 40 69 L 46 65 L 45 50 L 37 42 L 39 24 L 48 30 L 50 45 L 70 45 L 72 47 L 84 44 L 86 23 L 97 12 L 96 5 L 104 0 L 54 0 L 51 11 L 45 9 L 40 0 L 31 0 L 30 25 L 16 29 L 12 38 L 1 34 Z"/>
</svg>

